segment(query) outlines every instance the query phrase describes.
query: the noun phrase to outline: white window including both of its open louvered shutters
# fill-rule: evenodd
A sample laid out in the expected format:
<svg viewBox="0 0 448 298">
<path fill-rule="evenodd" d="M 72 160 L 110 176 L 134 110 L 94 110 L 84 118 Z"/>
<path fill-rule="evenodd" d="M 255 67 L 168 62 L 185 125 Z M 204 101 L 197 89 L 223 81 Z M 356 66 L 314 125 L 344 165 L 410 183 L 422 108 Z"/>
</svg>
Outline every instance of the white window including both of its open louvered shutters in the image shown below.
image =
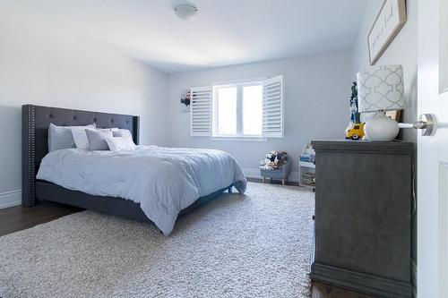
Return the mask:
<svg viewBox="0 0 448 298">
<path fill-rule="evenodd" d="M 190 134 L 225 140 L 283 137 L 283 76 L 190 89 Z"/>
</svg>

